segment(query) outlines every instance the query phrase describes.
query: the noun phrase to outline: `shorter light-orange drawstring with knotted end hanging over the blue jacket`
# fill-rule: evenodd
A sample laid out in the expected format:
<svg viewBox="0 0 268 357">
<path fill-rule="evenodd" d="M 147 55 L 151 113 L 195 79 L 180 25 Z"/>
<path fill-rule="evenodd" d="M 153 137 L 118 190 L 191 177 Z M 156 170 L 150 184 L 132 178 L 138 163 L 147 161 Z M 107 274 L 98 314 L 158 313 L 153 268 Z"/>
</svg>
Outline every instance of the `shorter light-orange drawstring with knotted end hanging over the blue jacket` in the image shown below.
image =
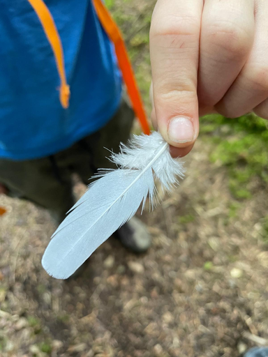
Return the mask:
<svg viewBox="0 0 268 357">
<path fill-rule="evenodd" d="M 55 61 L 57 63 L 57 69 L 59 72 L 59 78 L 61 79 L 61 86 L 59 89 L 59 100 L 61 101 L 64 109 L 68 108 L 70 89 L 66 81 L 65 67 L 64 67 L 64 52 L 62 50 L 61 38 L 57 31 L 57 27 L 54 23 L 53 17 L 48 10 L 43 0 L 28 0 L 31 6 L 34 8 L 36 15 L 38 16 L 40 23 L 43 26 L 45 36 L 50 42 L 52 51 L 54 52 Z"/>
</svg>

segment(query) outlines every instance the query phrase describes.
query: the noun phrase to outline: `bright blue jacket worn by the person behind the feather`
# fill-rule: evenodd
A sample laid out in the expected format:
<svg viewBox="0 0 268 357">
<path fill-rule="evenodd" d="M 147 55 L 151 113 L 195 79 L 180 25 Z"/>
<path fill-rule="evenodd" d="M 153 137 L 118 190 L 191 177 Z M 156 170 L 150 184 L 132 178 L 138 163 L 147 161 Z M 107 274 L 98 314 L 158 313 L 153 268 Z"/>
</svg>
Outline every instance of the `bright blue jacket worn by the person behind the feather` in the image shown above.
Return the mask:
<svg viewBox="0 0 268 357">
<path fill-rule="evenodd" d="M 105 126 L 119 107 L 121 75 L 91 0 L 46 0 L 64 50 L 70 105 L 59 102 L 50 43 L 27 0 L 0 11 L 0 157 L 41 158 Z"/>
</svg>

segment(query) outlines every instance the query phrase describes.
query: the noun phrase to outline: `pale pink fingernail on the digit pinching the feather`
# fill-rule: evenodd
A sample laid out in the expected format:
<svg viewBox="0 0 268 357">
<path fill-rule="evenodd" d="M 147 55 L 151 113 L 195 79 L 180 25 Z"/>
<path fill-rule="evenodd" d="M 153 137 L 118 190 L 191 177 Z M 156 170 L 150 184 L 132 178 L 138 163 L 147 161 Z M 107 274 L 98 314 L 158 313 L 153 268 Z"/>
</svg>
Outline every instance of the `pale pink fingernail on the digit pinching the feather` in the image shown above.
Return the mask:
<svg viewBox="0 0 268 357">
<path fill-rule="evenodd" d="M 184 116 L 177 116 L 170 121 L 168 136 L 172 142 L 184 144 L 193 141 L 193 123 Z"/>
</svg>

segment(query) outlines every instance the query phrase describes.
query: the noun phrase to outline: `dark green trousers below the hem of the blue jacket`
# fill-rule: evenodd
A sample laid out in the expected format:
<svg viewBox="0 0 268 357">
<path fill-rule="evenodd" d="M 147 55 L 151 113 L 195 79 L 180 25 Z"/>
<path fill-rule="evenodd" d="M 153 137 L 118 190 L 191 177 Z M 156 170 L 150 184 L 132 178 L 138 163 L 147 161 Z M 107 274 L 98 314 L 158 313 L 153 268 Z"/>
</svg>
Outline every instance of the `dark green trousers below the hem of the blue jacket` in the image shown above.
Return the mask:
<svg viewBox="0 0 268 357">
<path fill-rule="evenodd" d="M 112 167 L 107 149 L 117 152 L 119 143 L 127 142 L 133 117 L 133 110 L 122 99 L 118 112 L 104 128 L 64 151 L 37 160 L 0 158 L 0 183 L 8 188 L 11 197 L 28 199 L 47 208 L 61 222 L 75 203 L 72 174 L 78 174 L 88 185 L 98 168 Z"/>
</svg>

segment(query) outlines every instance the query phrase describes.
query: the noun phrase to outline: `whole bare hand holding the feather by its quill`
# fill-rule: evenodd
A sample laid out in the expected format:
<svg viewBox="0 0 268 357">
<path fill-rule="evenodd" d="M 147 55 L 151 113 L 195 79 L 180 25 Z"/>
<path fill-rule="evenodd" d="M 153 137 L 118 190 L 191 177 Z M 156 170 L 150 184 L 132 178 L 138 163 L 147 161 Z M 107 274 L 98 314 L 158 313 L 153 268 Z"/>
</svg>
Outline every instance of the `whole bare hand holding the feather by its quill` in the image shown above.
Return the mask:
<svg viewBox="0 0 268 357">
<path fill-rule="evenodd" d="M 152 119 L 172 155 L 191 151 L 200 115 L 268 119 L 267 19 L 267 0 L 157 1 Z"/>
</svg>

